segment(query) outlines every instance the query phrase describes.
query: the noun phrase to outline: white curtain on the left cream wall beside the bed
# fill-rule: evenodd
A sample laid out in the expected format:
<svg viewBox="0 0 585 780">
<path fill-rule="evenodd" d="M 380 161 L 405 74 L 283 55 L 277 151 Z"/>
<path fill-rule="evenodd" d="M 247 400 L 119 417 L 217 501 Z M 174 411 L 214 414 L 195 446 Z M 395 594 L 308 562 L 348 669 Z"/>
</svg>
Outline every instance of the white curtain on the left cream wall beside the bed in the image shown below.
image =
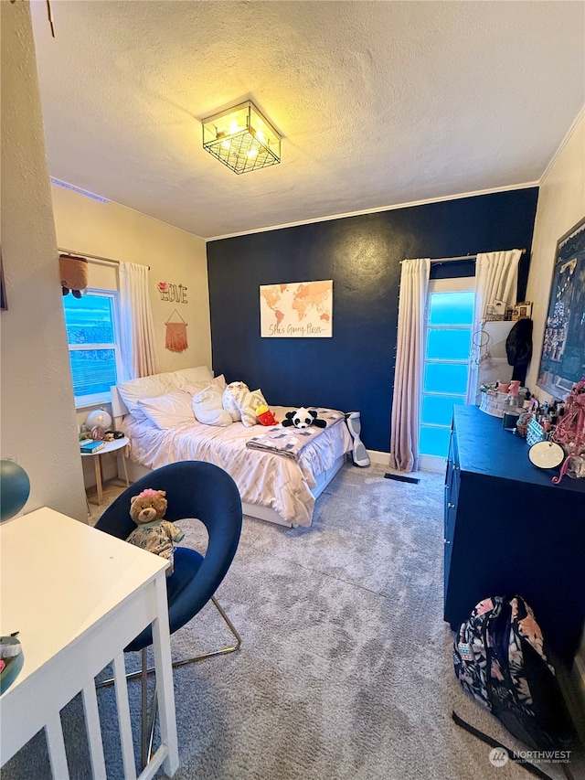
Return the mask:
<svg viewBox="0 0 585 780">
<path fill-rule="evenodd" d="M 120 263 L 120 318 L 123 381 L 156 373 L 148 266 Z"/>
</svg>

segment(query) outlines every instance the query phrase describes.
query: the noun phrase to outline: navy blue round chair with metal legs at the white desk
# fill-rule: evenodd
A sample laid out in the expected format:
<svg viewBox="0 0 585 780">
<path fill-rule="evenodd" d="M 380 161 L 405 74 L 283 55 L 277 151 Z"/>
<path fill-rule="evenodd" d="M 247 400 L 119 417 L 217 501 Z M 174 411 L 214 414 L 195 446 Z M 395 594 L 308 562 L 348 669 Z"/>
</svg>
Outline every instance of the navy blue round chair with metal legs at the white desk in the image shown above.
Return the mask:
<svg viewBox="0 0 585 780">
<path fill-rule="evenodd" d="M 101 515 L 95 528 L 118 539 L 127 539 L 135 528 L 130 517 L 131 498 L 147 487 L 165 490 L 168 502 L 165 519 L 177 523 L 180 527 L 182 519 L 197 518 L 205 525 L 208 535 L 205 555 L 186 547 L 177 546 L 175 549 L 174 572 L 166 578 L 171 634 L 186 625 L 210 601 L 217 607 L 236 639 L 235 645 L 176 661 L 173 666 L 183 666 L 204 658 L 233 653 L 239 649 L 241 638 L 228 615 L 218 604 L 214 593 L 226 576 L 238 549 L 242 509 L 236 483 L 217 465 L 202 461 L 181 461 L 165 465 L 126 488 Z M 124 649 L 125 652 L 142 651 L 142 670 L 127 675 L 127 678 L 140 677 L 143 681 L 143 764 L 147 763 L 152 752 L 156 714 L 154 699 L 147 723 L 146 676 L 153 669 L 147 668 L 146 650 L 152 642 L 152 629 L 149 626 Z M 104 680 L 100 685 L 111 683 L 112 680 Z"/>
</svg>

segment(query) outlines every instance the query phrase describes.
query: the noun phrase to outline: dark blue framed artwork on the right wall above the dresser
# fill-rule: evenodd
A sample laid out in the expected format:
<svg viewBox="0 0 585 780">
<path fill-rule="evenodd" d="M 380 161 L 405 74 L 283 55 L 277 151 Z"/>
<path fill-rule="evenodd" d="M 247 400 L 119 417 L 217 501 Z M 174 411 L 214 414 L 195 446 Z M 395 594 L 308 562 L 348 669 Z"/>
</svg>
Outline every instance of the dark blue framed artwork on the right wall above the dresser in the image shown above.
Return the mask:
<svg viewBox="0 0 585 780">
<path fill-rule="evenodd" d="M 565 401 L 585 375 L 585 218 L 557 243 L 537 385 Z"/>
</svg>

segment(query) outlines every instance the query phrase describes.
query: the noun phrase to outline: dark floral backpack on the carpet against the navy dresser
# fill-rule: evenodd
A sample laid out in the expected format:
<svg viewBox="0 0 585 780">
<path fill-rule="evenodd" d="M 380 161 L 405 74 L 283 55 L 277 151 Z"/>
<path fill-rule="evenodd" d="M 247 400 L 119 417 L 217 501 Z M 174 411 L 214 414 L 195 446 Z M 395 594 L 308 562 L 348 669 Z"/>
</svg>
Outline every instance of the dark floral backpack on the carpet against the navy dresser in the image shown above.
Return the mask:
<svg viewBox="0 0 585 780">
<path fill-rule="evenodd" d="M 574 729 L 555 669 L 534 613 L 521 596 L 492 596 L 477 604 L 455 637 L 453 663 L 463 690 L 529 748 L 564 750 L 571 743 Z M 455 713 L 453 720 L 486 737 Z"/>
</svg>

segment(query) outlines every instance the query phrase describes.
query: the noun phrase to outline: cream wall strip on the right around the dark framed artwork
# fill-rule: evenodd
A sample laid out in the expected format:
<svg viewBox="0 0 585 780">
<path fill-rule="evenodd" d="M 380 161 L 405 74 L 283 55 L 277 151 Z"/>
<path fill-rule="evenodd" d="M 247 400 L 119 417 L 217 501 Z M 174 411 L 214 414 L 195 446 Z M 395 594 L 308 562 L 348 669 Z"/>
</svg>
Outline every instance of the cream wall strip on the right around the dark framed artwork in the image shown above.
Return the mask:
<svg viewBox="0 0 585 780">
<path fill-rule="evenodd" d="M 540 183 L 537 219 L 532 241 L 532 258 L 527 283 L 527 300 L 534 302 L 532 318 L 533 355 L 527 373 L 527 387 L 540 400 L 549 400 L 537 388 L 542 340 L 548 313 L 548 299 L 557 252 L 557 241 L 585 216 L 585 109 L 560 144 Z"/>
</svg>

